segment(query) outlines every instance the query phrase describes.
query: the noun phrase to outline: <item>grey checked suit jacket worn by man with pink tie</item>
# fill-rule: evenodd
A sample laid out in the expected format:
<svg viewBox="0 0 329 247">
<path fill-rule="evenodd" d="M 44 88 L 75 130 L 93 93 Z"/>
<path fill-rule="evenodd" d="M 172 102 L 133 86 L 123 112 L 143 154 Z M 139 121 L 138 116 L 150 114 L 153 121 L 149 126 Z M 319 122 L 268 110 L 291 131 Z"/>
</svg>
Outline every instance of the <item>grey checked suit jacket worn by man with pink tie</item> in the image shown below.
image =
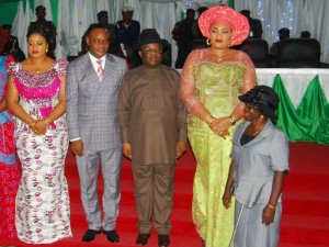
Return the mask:
<svg viewBox="0 0 329 247">
<path fill-rule="evenodd" d="M 69 138 L 81 138 L 87 151 L 121 147 L 117 98 L 126 61 L 107 54 L 99 81 L 89 54 L 68 65 L 66 116 Z"/>
</svg>

